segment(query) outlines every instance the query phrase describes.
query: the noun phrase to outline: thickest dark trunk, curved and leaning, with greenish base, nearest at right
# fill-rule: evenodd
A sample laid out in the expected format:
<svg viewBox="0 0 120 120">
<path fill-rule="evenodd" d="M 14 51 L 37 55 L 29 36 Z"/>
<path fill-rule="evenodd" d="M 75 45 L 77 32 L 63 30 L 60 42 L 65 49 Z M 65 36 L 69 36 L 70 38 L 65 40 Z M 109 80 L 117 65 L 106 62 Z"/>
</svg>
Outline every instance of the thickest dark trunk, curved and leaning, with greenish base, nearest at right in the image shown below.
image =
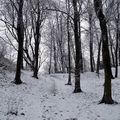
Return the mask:
<svg viewBox="0 0 120 120">
<path fill-rule="evenodd" d="M 100 22 L 100 28 L 102 33 L 102 57 L 104 64 L 104 73 L 105 73 L 105 84 L 104 84 L 104 95 L 100 103 L 113 104 L 111 92 L 111 65 L 110 65 L 110 53 L 108 48 L 108 35 L 107 35 L 107 26 L 106 18 L 103 14 L 102 1 L 94 0 L 94 7 L 96 15 Z"/>
</svg>

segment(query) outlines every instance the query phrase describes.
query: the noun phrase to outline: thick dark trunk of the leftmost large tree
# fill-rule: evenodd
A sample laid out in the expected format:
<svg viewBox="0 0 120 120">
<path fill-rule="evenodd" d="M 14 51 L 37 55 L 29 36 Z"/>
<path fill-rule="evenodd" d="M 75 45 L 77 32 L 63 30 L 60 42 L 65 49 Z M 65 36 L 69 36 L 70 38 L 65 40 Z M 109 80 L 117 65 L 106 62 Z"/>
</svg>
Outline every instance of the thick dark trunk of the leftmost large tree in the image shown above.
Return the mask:
<svg viewBox="0 0 120 120">
<path fill-rule="evenodd" d="M 18 20 L 17 20 L 17 37 L 18 37 L 18 56 L 15 75 L 15 84 L 21 84 L 21 69 L 23 63 L 23 42 L 24 42 L 24 24 L 23 24 L 23 3 L 24 0 L 18 2 Z"/>
</svg>

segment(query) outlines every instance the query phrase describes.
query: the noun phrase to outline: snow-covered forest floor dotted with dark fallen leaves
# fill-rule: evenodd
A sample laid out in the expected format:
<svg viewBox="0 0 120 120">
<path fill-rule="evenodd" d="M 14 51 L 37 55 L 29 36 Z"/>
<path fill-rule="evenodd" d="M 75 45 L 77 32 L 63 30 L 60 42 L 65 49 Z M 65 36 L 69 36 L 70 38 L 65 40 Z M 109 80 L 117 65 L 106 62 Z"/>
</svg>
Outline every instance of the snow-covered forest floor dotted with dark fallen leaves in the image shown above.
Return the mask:
<svg viewBox="0 0 120 120">
<path fill-rule="evenodd" d="M 67 74 L 41 74 L 39 79 L 23 71 L 24 84 L 15 85 L 13 73 L 0 75 L 0 120 L 120 120 L 120 79 L 112 80 L 116 105 L 98 104 L 103 95 L 104 77 L 81 75 L 83 92 L 74 94 Z"/>
</svg>

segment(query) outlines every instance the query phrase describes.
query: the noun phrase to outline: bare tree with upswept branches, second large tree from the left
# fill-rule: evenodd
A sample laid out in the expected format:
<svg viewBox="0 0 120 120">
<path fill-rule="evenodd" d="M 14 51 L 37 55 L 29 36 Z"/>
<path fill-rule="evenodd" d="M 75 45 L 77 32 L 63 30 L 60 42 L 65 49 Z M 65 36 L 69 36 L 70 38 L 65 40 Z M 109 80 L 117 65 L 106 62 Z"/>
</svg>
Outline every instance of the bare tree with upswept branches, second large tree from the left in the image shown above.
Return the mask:
<svg viewBox="0 0 120 120">
<path fill-rule="evenodd" d="M 40 52 L 40 42 L 41 42 L 41 31 L 45 19 L 47 17 L 47 12 L 45 11 L 46 2 L 42 0 L 33 1 L 30 0 L 30 17 L 32 34 L 34 39 L 34 47 L 31 47 L 33 53 L 33 77 L 38 78 L 39 70 L 39 52 Z"/>
</svg>

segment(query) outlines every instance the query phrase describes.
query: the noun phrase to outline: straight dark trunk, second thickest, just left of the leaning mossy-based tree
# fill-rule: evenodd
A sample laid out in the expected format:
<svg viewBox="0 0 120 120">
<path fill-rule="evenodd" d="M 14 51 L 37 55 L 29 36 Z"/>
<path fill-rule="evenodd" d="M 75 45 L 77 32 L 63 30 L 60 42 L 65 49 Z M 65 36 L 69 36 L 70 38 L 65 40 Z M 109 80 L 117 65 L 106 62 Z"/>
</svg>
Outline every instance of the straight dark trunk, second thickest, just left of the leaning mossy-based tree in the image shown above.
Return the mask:
<svg viewBox="0 0 120 120">
<path fill-rule="evenodd" d="M 74 9 L 74 37 L 75 37 L 75 89 L 74 93 L 82 92 L 80 87 L 80 39 L 79 39 L 79 12 L 77 9 L 77 0 L 73 0 Z"/>
</svg>

